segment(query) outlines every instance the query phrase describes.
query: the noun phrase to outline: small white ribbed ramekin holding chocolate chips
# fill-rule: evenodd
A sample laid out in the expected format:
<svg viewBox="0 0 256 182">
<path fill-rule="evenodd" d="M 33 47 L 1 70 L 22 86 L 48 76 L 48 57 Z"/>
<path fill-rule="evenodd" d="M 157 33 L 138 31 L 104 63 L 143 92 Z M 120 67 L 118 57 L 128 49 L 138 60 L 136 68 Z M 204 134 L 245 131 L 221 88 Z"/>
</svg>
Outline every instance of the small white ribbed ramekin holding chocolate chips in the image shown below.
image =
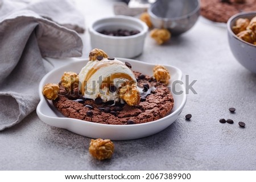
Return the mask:
<svg viewBox="0 0 256 182">
<path fill-rule="evenodd" d="M 99 33 L 102 30 L 138 30 L 131 36 L 109 36 Z M 130 16 L 112 16 L 96 20 L 89 27 L 92 49 L 104 50 L 109 56 L 133 58 L 143 52 L 144 40 L 148 31 L 146 23 Z"/>
</svg>

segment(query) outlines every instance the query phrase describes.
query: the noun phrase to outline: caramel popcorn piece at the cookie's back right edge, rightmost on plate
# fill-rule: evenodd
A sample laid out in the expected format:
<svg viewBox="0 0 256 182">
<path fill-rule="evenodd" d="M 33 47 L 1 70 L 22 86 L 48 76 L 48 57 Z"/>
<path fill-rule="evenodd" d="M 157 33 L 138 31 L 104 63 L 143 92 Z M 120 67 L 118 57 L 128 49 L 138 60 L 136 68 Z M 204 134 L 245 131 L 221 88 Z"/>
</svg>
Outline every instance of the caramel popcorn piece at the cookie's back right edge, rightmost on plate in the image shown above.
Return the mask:
<svg viewBox="0 0 256 182">
<path fill-rule="evenodd" d="M 155 65 L 154 69 L 154 78 L 163 84 L 168 84 L 171 76 L 169 71 L 166 69 L 166 67 L 162 65 Z"/>
</svg>

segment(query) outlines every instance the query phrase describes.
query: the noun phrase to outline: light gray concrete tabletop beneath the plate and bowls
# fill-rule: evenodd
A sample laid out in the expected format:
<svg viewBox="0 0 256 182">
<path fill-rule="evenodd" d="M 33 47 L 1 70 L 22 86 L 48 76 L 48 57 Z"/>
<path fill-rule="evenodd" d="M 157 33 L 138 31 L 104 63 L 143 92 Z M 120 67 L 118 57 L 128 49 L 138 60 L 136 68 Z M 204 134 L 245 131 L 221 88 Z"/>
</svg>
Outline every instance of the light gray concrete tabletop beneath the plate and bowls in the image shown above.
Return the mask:
<svg viewBox="0 0 256 182">
<path fill-rule="evenodd" d="M 113 15 L 114 2 L 76 1 L 87 27 Z M 87 30 L 82 38 L 87 57 Z M 200 18 L 189 32 L 162 46 L 147 35 L 144 52 L 135 59 L 177 66 L 189 81 L 197 80 L 197 94 L 189 92 L 174 124 L 154 136 L 114 141 L 113 158 L 98 161 L 88 153 L 90 138 L 44 124 L 33 112 L 0 132 L 0 170 L 256 170 L 256 75 L 233 57 L 225 27 Z M 191 121 L 184 119 L 187 113 Z M 220 118 L 232 118 L 234 124 L 221 124 Z"/>
</svg>

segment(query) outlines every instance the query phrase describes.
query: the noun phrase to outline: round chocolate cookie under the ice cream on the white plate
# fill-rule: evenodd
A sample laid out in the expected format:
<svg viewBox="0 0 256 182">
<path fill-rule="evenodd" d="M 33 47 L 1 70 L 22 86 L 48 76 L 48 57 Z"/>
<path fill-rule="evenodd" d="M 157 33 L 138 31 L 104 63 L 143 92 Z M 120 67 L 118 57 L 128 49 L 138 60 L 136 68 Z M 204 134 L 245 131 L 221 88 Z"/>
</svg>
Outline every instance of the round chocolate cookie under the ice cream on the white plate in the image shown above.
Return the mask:
<svg viewBox="0 0 256 182">
<path fill-rule="evenodd" d="M 134 73 L 138 79 L 138 86 L 144 88 L 144 95 L 142 94 L 138 105 L 129 106 L 126 103 L 113 105 L 112 101 L 96 103 L 94 100 L 83 98 L 77 88 L 68 94 L 60 92 L 59 98 L 53 101 L 53 105 L 66 117 L 114 125 L 155 121 L 170 113 L 174 107 L 174 99 L 168 88 L 147 75 Z"/>
</svg>

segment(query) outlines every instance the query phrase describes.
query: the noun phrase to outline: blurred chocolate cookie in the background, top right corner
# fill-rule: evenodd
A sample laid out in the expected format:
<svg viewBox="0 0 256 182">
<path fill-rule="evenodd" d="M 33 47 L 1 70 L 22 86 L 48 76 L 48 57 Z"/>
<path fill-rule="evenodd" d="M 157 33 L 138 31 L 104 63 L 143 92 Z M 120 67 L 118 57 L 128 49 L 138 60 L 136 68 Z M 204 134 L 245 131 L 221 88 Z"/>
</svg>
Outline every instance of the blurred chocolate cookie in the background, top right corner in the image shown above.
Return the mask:
<svg viewBox="0 0 256 182">
<path fill-rule="evenodd" d="M 256 11 L 256 0 L 200 0 L 201 15 L 213 22 L 226 23 L 243 11 Z"/>
</svg>

